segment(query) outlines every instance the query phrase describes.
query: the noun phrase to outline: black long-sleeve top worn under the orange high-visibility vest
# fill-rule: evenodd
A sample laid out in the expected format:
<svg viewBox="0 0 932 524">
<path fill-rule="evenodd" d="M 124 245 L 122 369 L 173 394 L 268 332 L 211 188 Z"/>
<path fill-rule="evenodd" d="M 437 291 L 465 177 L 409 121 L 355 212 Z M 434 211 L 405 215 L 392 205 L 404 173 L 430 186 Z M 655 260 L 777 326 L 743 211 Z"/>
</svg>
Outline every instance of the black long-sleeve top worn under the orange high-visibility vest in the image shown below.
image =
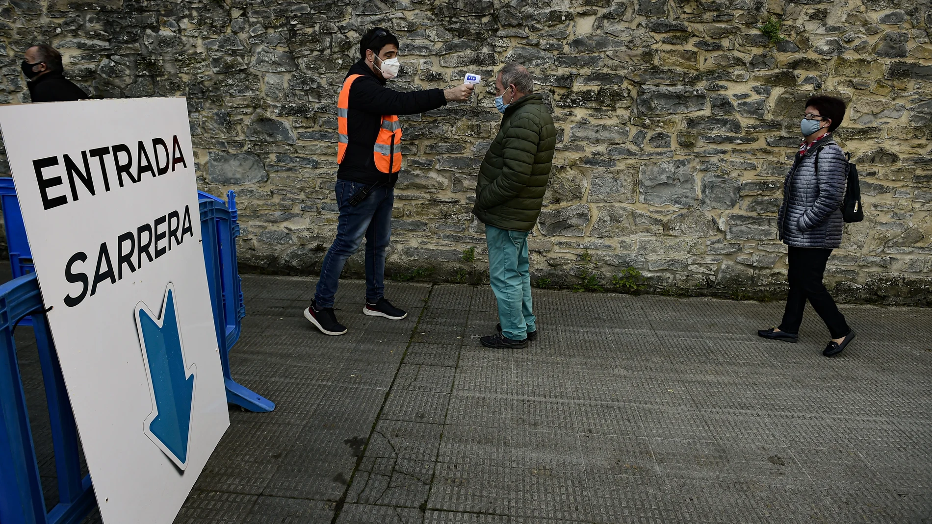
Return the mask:
<svg viewBox="0 0 932 524">
<path fill-rule="evenodd" d="M 360 60 L 349 68 L 350 74 L 362 74 L 349 87 L 347 132 L 349 144 L 336 178 L 366 184 L 388 181 L 392 186 L 398 173 L 389 175 L 376 168 L 373 146 L 383 114 L 419 114 L 446 105 L 443 89 L 425 89 L 404 93 L 385 87 L 381 80 Z M 404 133 L 404 128 L 402 129 Z M 404 134 L 402 136 L 404 140 Z"/>
</svg>

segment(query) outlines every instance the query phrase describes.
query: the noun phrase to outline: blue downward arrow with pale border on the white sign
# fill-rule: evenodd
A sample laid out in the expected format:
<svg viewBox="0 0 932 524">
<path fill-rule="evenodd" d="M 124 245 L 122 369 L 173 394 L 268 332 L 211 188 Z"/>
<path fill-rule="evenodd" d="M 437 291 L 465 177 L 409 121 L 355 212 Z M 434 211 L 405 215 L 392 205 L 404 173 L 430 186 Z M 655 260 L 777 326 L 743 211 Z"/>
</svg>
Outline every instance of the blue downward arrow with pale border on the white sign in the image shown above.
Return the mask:
<svg viewBox="0 0 932 524">
<path fill-rule="evenodd" d="M 193 364 L 185 369 L 185 348 L 171 282 L 165 289 L 161 318 L 144 302 L 136 304 L 135 314 L 153 407 L 145 419 L 144 433 L 184 471 L 197 369 Z"/>
</svg>

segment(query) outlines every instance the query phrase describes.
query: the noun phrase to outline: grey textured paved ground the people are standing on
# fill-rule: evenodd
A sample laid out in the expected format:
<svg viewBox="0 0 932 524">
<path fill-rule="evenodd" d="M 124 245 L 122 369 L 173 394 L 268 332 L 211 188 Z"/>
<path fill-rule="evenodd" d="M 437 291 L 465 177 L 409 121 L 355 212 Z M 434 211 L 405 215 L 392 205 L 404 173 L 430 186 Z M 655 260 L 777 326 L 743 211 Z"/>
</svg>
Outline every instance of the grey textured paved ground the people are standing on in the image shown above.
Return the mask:
<svg viewBox="0 0 932 524">
<path fill-rule="evenodd" d="M 341 281 L 326 337 L 315 283 L 243 276 L 233 373 L 278 409 L 230 410 L 176 522 L 932 522 L 932 310 L 843 304 L 828 359 L 811 309 L 789 344 L 781 302 L 535 289 L 539 339 L 489 350 L 487 287 L 391 282 L 391 322 Z"/>
</svg>

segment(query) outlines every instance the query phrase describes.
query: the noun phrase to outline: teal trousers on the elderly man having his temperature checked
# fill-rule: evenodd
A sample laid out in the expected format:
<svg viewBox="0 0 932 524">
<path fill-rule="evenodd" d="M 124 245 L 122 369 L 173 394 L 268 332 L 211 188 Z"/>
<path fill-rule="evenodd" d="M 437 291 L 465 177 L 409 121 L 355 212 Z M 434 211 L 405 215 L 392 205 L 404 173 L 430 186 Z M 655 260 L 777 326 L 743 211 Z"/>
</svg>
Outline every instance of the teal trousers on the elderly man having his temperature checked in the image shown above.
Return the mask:
<svg viewBox="0 0 932 524">
<path fill-rule="evenodd" d="M 530 300 L 528 232 L 486 226 L 488 278 L 499 301 L 501 332 L 513 341 L 537 330 Z"/>
</svg>

